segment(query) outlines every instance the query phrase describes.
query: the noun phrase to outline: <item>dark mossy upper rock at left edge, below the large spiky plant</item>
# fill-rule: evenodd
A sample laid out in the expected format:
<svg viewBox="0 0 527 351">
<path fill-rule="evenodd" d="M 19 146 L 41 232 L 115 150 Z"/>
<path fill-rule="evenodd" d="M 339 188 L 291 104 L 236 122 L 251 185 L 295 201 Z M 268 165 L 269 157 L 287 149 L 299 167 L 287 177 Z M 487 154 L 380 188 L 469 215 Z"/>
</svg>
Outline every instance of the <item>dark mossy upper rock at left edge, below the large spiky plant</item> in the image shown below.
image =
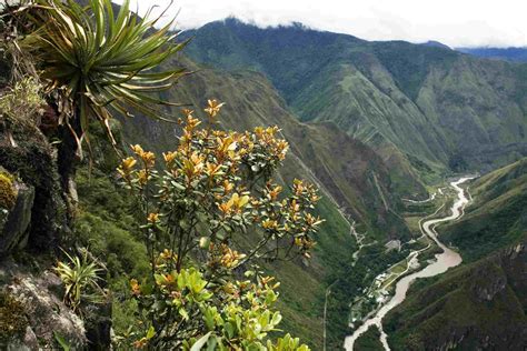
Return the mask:
<svg viewBox="0 0 527 351">
<path fill-rule="evenodd" d="M 54 149 L 33 123 L 12 124 L 0 117 L 0 167 L 13 174 L 19 188 L 17 204 L 9 214 L 13 218 L 10 225 L 19 228 L 4 231 L 23 239 L 13 240 L 7 251 L 26 243 L 36 253 L 54 250 L 69 232 Z M 1 247 L 0 239 L 0 258 L 7 252 Z"/>
</svg>

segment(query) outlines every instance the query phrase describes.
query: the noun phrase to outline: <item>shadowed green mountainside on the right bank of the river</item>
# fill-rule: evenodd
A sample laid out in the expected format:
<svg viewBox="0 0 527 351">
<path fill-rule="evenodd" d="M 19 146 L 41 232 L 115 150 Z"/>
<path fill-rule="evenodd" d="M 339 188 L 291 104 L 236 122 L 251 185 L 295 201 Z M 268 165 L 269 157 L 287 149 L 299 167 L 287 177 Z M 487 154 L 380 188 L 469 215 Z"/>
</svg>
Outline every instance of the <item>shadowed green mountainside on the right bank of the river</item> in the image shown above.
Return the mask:
<svg viewBox="0 0 527 351">
<path fill-rule="evenodd" d="M 527 344 L 527 159 L 471 185 L 460 221 L 439 228 L 463 264 L 417 282 L 385 320 L 394 350 L 523 350 Z"/>
</svg>

